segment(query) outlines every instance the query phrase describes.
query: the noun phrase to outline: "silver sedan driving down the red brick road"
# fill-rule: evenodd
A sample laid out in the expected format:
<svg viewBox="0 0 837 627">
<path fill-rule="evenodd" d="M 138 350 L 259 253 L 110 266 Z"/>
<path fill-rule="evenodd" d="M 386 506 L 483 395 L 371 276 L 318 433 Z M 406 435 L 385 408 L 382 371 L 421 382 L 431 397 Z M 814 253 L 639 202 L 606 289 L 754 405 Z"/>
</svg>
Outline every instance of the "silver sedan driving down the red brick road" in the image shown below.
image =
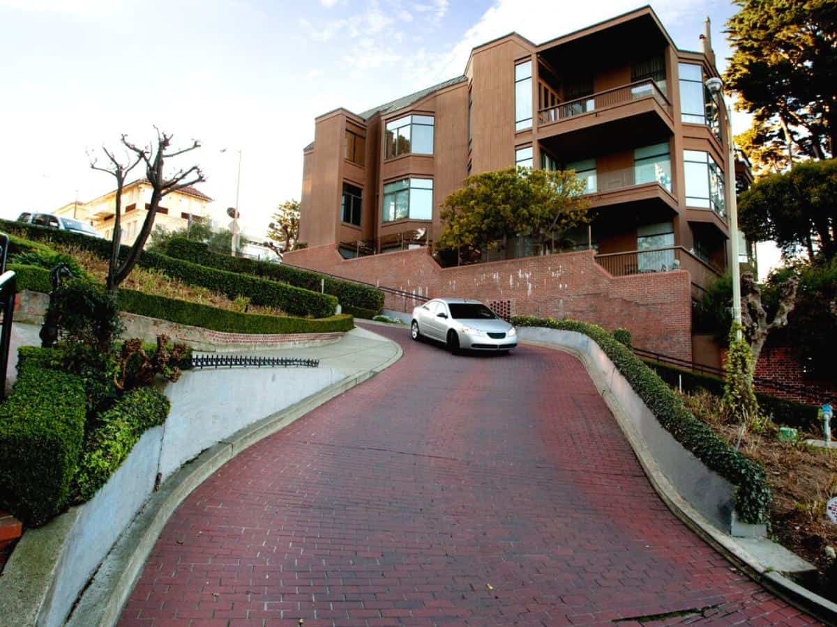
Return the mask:
<svg viewBox="0 0 837 627">
<path fill-rule="evenodd" d="M 465 298 L 434 298 L 413 309 L 413 339 L 423 336 L 460 349 L 508 353 L 517 345 L 517 331 L 483 303 Z"/>
</svg>

